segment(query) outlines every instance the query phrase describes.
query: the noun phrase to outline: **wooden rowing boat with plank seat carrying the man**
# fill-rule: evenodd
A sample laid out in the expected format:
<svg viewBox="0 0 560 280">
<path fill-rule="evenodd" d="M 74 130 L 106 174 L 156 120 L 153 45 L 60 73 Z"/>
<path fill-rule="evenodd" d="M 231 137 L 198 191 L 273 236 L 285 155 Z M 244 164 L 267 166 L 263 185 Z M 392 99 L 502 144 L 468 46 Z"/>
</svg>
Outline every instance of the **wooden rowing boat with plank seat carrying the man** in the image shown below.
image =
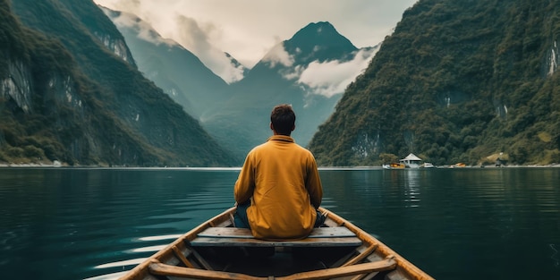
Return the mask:
<svg viewBox="0 0 560 280">
<path fill-rule="evenodd" d="M 303 240 L 265 241 L 233 226 L 225 210 L 158 251 L 132 279 L 433 279 L 341 216 L 327 215 Z"/>
</svg>

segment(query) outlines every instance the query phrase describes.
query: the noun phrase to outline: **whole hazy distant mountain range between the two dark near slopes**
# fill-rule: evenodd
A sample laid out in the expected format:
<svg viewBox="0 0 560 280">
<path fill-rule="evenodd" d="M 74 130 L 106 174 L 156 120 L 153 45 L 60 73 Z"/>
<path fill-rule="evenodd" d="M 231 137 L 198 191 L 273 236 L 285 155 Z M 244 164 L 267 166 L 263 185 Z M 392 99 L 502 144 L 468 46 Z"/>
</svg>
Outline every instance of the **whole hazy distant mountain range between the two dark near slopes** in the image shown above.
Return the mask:
<svg viewBox="0 0 560 280">
<path fill-rule="evenodd" d="M 270 50 L 253 69 L 244 69 L 225 54 L 236 69 L 244 69 L 243 79 L 228 85 L 147 22 L 129 13 L 101 9 L 122 32 L 140 71 L 187 113 L 199 117 L 240 165 L 250 148 L 270 135 L 267 119 L 280 103 L 294 106 L 298 121 L 293 137 L 307 145 L 318 125 L 332 114 L 344 87 L 367 67 L 378 49 L 358 49 L 330 23 L 311 23 Z"/>
</svg>

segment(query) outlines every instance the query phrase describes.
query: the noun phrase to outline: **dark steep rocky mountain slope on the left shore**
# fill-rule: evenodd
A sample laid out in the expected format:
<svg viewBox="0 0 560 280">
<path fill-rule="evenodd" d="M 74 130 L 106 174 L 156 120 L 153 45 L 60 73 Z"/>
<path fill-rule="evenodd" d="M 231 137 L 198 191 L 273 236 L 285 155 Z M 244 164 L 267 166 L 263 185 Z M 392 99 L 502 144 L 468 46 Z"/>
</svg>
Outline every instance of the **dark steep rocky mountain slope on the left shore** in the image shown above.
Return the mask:
<svg viewBox="0 0 560 280">
<path fill-rule="evenodd" d="M 233 164 L 93 2 L 0 0 L 0 13 L 0 161 Z"/>
</svg>

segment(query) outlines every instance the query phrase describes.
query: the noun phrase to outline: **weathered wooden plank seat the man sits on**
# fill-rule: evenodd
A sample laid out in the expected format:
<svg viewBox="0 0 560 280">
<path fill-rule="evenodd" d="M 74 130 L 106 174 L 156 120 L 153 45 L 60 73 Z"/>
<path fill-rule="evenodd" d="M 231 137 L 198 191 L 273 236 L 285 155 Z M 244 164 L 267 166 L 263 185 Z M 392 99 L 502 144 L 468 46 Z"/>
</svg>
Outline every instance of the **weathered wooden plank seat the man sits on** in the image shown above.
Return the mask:
<svg viewBox="0 0 560 280">
<path fill-rule="evenodd" d="M 338 247 L 360 246 L 361 240 L 344 226 L 318 227 L 308 237 L 291 241 L 256 239 L 247 228 L 209 227 L 200 232 L 190 244 L 193 247 Z"/>
</svg>

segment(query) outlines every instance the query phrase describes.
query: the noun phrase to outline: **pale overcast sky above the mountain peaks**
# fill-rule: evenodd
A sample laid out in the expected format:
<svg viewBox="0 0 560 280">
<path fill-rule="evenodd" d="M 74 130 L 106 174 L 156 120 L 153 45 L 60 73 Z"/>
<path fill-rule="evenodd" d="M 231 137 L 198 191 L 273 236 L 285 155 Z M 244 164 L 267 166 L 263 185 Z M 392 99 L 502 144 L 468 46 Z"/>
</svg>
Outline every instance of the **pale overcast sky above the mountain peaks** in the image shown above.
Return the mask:
<svg viewBox="0 0 560 280">
<path fill-rule="evenodd" d="M 251 68 L 279 42 L 310 22 L 329 21 L 356 47 L 374 47 L 416 0 L 94 0 L 134 13 L 164 38 L 199 56 L 225 81 L 240 72 L 225 65 L 227 52 Z"/>
</svg>

